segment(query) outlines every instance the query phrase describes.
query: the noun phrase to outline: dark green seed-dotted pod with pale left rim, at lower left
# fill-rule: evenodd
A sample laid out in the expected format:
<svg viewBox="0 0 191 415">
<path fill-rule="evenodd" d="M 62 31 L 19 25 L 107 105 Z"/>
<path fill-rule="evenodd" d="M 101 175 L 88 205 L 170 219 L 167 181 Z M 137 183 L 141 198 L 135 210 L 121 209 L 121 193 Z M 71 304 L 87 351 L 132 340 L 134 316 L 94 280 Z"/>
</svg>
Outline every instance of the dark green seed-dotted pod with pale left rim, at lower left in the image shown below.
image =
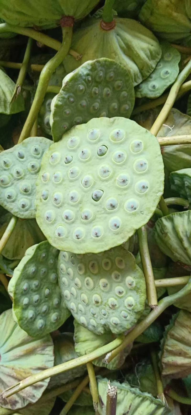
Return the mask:
<svg viewBox="0 0 191 415">
<path fill-rule="evenodd" d="M 58 286 L 58 254 L 48 241 L 33 245 L 9 283 L 18 324 L 32 337 L 43 337 L 56 330 L 70 315 Z"/>
</svg>

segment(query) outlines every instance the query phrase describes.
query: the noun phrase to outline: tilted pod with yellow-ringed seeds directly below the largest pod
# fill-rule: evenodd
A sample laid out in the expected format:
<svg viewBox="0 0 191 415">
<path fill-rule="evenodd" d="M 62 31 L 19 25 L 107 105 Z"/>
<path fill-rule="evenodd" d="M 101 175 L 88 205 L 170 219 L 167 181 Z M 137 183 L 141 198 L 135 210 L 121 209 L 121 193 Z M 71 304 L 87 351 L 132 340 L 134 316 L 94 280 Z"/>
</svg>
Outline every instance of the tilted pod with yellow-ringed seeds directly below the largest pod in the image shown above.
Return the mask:
<svg viewBox="0 0 191 415">
<path fill-rule="evenodd" d="M 143 272 L 122 247 L 96 254 L 58 256 L 60 290 L 77 322 L 97 334 L 129 330 L 145 308 Z"/>
</svg>

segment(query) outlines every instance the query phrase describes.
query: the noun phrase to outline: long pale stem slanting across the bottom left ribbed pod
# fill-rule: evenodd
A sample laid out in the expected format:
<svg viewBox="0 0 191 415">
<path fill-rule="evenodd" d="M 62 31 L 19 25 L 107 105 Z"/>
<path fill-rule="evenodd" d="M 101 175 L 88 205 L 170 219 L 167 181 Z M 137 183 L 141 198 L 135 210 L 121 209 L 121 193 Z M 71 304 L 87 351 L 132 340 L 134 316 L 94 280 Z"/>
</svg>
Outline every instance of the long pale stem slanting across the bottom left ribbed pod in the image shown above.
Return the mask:
<svg viewBox="0 0 191 415">
<path fill-rule="evenodd" d="M 23 379 L 22 381 L 17 383 L 15 386 L 13 385 L 10 388 L 6 389 L 6 391 L 2 392 L 1 395 L 3 395 L 5 398 L 8 398 L 9 396 L 14 395 L 14 393 L 22 391 L 24 388 L 27 388 L 27 386 L 33 385 L 36 382 L 42 381 L 51 376 L 58 375 L 59 373 L 66 372 L 67 370 L 73 369 L 75 367 L 87 364 L 88 362 L 97 359 L 98 357 L 103 356 L 106 353 L 111 352 L 111 350 L 118 347 L 122 342 L 123 336 L 121 335 L 112 342 L 106 344 L 105 346 L 99 347 L 99 349 L 96 349 L 89 354 L 85 354 L 84 356 L 80 356 L 76 359 L 72 359 L 65 363 L 61 363 L 50 369 L 45 369 L 44 371 L 41 371 L 35 375 L 31 375 L 28 378 Z"/>
</svg>

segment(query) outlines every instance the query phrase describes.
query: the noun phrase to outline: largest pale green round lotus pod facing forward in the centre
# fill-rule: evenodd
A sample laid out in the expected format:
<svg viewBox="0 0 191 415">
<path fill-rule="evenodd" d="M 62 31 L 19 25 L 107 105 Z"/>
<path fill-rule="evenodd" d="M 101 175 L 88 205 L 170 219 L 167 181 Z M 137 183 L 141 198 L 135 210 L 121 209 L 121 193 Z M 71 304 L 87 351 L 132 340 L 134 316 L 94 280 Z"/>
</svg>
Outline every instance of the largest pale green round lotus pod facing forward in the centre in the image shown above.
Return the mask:
<svg viewBox="0 0 191 415">
<path fill-rule="evenodd" d="M 164 186 L 160 146 L 134 121 L 94 118 L 51 146 L 36 185 L 36 221 L 50 244 L 102 252 L 153 215 Z"/>
</svg>

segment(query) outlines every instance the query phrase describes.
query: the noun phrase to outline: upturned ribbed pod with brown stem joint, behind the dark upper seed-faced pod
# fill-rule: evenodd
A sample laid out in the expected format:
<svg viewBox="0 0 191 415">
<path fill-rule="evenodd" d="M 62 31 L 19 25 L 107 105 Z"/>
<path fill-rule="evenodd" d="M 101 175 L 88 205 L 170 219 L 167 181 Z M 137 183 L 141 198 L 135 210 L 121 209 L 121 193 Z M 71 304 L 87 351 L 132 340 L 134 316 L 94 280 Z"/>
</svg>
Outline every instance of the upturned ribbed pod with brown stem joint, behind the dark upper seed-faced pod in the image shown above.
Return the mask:
<svg viewBox="0 0 191 415">
<path fill-rule="evenodd" d="M 114 22 L 114 27 L 104 30 L 102 20 L 91 17 L 74 33 L 71 47 L 82 59 L 67 55 L 66 72 L 89 60 L 109 58 L 130 71 L 134 86 L 150 75 L 162 54 L 156 37 L 136 20 L 116 17 Z"/>
</svg>

